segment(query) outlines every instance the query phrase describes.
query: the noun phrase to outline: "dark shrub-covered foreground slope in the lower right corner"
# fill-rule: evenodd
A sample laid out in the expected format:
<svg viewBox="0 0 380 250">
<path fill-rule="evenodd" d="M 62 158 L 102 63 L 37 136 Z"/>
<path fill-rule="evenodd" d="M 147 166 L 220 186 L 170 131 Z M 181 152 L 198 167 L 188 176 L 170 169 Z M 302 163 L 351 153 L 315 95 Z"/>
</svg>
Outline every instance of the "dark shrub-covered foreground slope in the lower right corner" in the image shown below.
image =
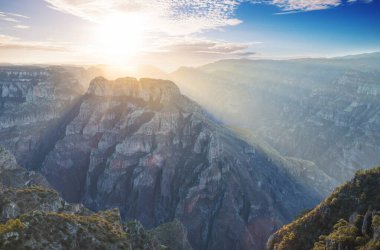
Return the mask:
<svg viewBox="0 0 380 250">
<path fill-rule="evenodd" d="M 361 170 L 316 208 L 282 227 L 268 249 L 380 248 L 380 167 Z"/>
</svg>

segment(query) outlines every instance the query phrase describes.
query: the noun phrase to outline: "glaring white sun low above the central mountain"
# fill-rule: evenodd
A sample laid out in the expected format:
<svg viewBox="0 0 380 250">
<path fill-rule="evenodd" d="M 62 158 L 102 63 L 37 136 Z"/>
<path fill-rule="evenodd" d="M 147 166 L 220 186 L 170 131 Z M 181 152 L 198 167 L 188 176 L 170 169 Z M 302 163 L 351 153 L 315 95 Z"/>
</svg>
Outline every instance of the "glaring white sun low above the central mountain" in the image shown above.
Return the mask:
<svg viewBox="0 0 380 250">
<path fill-rule="evenodd" d="M 143 49 L 145 22 L 141 15 L 115 14 L 95 29 L 91 50 L 107 63 L 127 64 Z"/>
</svg>

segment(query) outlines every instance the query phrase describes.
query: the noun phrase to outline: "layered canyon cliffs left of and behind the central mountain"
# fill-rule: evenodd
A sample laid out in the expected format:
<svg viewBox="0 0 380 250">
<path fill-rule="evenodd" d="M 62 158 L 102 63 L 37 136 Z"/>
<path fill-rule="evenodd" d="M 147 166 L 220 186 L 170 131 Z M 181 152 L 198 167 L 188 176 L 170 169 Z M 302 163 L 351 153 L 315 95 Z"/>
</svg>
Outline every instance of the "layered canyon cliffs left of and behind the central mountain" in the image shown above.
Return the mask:
<svg viewBox="0 0 380 250">
<path fill-rule="evenodd" d="M 98 72 L 78 67 L 0 67 L 0 144 L 22 166 L 38 168 L 72 115 L 68 110 Z"/>
</svg>

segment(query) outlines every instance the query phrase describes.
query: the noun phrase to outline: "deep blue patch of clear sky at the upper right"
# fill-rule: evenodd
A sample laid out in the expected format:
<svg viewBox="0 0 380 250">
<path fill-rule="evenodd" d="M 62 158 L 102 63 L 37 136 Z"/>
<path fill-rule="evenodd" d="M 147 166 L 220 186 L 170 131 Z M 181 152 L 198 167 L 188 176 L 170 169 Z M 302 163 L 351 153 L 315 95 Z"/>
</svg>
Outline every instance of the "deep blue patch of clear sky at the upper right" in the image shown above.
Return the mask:
<svg viewBox="0 0 380 250">
<path fill-rule="evenodd" d="M 378 51 L 380 2 L 343 4 L 319 11 L 281 13 L 273 5 L 242 4 L 236 11 L 244 22 L 231 36 L 258 40 L 258 53 L 269 56 L 334 56 Z M 267 46 L 265 46 L 267 45 Z"/>
</svg>

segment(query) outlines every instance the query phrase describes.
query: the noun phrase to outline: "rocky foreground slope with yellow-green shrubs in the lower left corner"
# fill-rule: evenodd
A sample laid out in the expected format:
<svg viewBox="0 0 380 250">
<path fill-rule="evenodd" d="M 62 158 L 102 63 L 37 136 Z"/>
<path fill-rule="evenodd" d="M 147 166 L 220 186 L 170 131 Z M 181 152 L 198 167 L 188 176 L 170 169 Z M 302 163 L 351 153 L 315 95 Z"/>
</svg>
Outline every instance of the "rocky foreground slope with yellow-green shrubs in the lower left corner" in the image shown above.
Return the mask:
<svg viewBox="0 0 380 250">
<path fill-rule="evenodd" d="M 0 148 L 0 249 L 163 248 L 140 224 L 122 223 L 117 209 L 93 213 L 36 185 L 46 180 Z"/>
</svg>

